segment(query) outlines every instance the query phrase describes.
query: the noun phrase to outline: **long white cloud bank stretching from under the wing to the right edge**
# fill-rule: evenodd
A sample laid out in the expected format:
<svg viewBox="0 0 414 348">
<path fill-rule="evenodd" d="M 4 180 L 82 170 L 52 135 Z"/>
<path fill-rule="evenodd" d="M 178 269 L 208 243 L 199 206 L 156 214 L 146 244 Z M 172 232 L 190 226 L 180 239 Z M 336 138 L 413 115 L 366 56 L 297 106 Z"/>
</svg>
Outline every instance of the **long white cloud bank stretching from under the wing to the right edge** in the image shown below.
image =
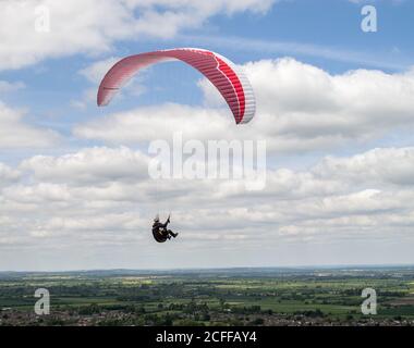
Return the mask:
<svg viewBox="0 0 414 348">
<path fill-rule="evenodd" d="M 209 82 L 202 80 L 198 86 L 205 95 L 205 108 L 137 108 L 80 124 L 74 134 L 132 144 L 171 138 L 179 130 L 200 140 L 260 138 L 270 150 L 301 152 L 350 141 L 362 144 L 414 125 L 414 71 L 387 74 L 357 70 L 332 75 L 294 59 L 252 62 L 244 69 L 258 105 L 248 126 L 235 127 L 222 97 Z"/>
</svg>

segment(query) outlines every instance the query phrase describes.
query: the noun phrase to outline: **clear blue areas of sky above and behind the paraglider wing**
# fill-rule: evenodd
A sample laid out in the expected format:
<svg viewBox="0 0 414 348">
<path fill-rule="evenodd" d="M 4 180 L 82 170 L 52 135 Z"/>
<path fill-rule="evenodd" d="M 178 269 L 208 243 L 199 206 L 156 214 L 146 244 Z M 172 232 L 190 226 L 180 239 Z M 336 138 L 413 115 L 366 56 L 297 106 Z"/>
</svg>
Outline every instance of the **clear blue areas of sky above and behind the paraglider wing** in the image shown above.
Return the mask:
<svg viewBox="0 0 414 348">
<path fill-rule="evenodd" d="M 109 54 L 90 57 L 94 53 L 92 51 L 90 54 L 46 59 L 35 66 L 22 70 L 2 71 L 0 73 L 2 79 L 24 82 L 31 86 L 5 95 L 2 100 L 28 105 L 33 111 L 34 122 L 44 123 L 49 122 L 45 119 L 59 117 L 57 126 L 62 130 L 62 119 L 77 122 L 84 116 L 82 113 L 76 115 L 68 109 L 62 110 L 61 107 L 78 98 L 84 89 L 93 87 L 78 72 L 97 58 L 125 57 L 136 52 L 182 46 L 211 49 L 240 64 L 289 55 L 333 74 L 364 67 L 381 69 L 386 72 L 409 69 L 414 64 L 410 35 L 414 4 L 410 1 L 377 1 L 376 8 L 379 30 L 375 34 L 361 30 L 362 4 L 343 0 L 330 1 L 329 5 L 325 0 L 281 1 L 265 14 L 236 13 L 229 16 L 218 13 L 202 27 L 183 33 L 176 38 L 160 40 L 144 37 L 117 41 L 113 42 L 113 49 L 108 52 Z M 334 52 L 334 55 L 325 58 L 321 50 L 327 50 L 328 57 L 329 52 Z M 176 73 L 171 72 L 169 67 L 157 67 L 146 80 L 146 85 L 159 86 L 160 79 L 165 80 L 166 74 L 171 74 L 167 76 L 170 84 L 176 83 L 173 79 L 174 74 L 181 76 L 183 72 L 187 75 L 185 85 L 197 78 L 197 73 L 191 69 L 181 64 L 175 65 L 175 69 L 180 70 Z M 191 95 L 193 99 L 188 98 L 190 92 L 190 88 L 173 88 L 163 94 L 157 92 L 153 96 L 146 94 L 139 101 L 199 102 L 195 100 L 196 96 Z M 198 97 L 202 98 L 200 94 Z M 131 107 L 134 103 L 135 100 L 124 100 L 121 107 L 125 104 Z M 96 111 L 94 107 L 94 104 L 88 105 L 87 112 Z"/>
</svg>

